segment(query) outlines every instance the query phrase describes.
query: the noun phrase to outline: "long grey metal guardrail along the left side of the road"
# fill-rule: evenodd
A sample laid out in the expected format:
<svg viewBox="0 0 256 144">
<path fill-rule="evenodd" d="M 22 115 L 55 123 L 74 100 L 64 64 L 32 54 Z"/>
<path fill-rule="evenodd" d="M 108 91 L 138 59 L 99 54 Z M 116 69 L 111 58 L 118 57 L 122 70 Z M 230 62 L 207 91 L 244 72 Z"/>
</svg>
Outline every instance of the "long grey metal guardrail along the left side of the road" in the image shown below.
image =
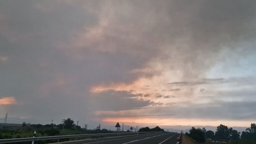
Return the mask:
<svg viewBox="0 0 256 144">
<path fill-rule="evenodd" d="M 129 132 L 129 133 L 102 133 L 102 134 L 81 134 L 81 135 L 62 135 L 62 136 L 47 136 L 47 137 L 30 137 L 30 138 L 14 138 L 14 139 L 0 139 L 0 144 L 2 143 L 14 143 L 14 142 L 28 142 L 28 141 L 40 141 L 40 140 L 53 140 L 53 139 L 65 139 L 65 138 L 80 138 L 80 137 L 90 137 L 90 136 L 118 136 L 118 135 L 136 135 L 136 134 L 148 134 L 148 133 L 158 133 L 158 132 Z"/>
</svg>

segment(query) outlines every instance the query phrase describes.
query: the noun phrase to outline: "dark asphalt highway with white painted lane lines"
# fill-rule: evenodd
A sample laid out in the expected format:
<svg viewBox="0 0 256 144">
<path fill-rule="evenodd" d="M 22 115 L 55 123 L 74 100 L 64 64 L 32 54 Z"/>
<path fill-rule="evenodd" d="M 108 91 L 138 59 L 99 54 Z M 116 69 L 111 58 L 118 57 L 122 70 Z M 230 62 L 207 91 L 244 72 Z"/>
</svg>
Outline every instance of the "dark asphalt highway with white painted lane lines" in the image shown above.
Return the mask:
<svg viewBox="0 0 256 144">
<path fill-rule="evenodd" d="M 155 133 L 65 142 L 65 144 L 176 144 L 178 133 Z"/>
</svg>

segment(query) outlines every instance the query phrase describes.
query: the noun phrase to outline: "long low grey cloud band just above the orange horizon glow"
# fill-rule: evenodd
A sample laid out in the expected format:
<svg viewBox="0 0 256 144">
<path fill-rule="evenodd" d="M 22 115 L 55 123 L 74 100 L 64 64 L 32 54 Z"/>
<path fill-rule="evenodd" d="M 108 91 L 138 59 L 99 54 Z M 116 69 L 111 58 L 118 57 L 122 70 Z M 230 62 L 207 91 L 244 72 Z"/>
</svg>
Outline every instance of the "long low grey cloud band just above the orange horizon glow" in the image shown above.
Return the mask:
<svg viewBox="0 0 256 144">
<path fill-rule="evenodd" d="M 153 102 L 152 102 L 153 103 Z M 168 106 L 150 107 L 139 110 L 101 112 L 98 116 L 108 117 L 134 117 L 143 114 L 162 115 L 161 118 L 170 118 L 165 114 L 171 114 L 173 119 L 200 119 L 210 121 L 253 121 L 256 118 L 256 102 L 224 102 L 213 101 L 205 104 L 190 104 L 184 106 L 177 103 L 167 103 Z M 241 109 L 243 108 L 243 109 Z M 119 115 L 119 116 L 118 116 Z M 104 117 L 104 116 L 103 116 Z M 248 124 L 250 125 L 250 124 Z"/>
</svg>

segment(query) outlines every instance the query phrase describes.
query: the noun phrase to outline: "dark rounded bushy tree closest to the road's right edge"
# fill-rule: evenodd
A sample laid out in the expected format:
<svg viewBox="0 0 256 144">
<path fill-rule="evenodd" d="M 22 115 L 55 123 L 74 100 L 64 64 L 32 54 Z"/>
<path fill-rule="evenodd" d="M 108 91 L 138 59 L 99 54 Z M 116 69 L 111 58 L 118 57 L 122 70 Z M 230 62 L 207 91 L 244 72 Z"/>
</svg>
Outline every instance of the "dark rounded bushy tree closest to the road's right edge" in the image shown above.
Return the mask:
<svg viewBox="0 0 256 144">
<path fill-rule="evenodd" d="M 196 140 L 199 143 L 204 143 L 206 141 L 205 133 L 200 128 L 196 129 L 195 127 L 192 127 L 189 130 L 188 136 L 193 138 L 194 140 Z"/>
</svg>

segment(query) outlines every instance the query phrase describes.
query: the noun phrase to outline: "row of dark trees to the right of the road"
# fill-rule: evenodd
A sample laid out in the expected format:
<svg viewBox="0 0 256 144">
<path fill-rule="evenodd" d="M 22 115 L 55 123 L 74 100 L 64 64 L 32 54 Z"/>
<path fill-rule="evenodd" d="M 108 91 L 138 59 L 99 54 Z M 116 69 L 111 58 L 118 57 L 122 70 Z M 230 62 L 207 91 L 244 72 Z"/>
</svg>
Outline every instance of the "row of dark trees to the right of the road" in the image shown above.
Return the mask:
<svg viewBox="0 0 256 144">
<path fill-rule="evenodd" d="M 199 143 L 204 143 L 206 139 L 213 139 L 218 141 L 253 141 L 256 142 L 256 124 L 252 123 L 250 128 L 247 128 L 245 131 L 242 132 L 240 136 L 240 132 L 234 130 L 233 128 L 228 128 L 225 125 L 219 125 L 217 127 L 217 131 L 207 131 L 205 128 L 195 128 L 192 127 L 189 130 L 189 133 L 186 135 L 190 136 L 191 138 L 195 139 Z"/>
</svg>

